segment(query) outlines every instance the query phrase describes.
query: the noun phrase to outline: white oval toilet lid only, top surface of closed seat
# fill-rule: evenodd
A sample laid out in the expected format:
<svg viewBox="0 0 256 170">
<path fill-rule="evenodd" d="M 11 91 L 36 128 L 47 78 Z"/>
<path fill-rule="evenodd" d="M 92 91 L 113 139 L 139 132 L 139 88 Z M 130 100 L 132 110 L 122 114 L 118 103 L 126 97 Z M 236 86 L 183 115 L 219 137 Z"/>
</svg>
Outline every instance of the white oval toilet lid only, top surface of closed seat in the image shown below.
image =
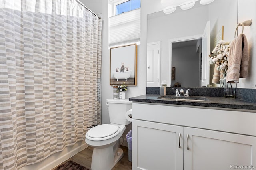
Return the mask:
<svg viewBox="0 0 256 170">
<path fill-rule="evenodd" d="M 118 131 L 118 127 L 110 124 L 102 124 L 91 128 L 87 135 L 92 138 L 104 138 Z"/>
</svg>

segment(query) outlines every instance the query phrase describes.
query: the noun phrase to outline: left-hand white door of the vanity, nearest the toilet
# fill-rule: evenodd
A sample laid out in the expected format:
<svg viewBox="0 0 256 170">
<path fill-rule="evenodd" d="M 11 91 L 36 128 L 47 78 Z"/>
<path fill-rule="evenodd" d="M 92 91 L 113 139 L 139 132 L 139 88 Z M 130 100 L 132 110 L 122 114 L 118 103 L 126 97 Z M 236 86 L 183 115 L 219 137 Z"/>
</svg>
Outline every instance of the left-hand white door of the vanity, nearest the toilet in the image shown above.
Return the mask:
<svg viewBox="0 0 256 170">
<path fill-rule="evenodd" d="M 133 119 L 132 169 L 183 169 L 183 127 Z"/>
</svg>

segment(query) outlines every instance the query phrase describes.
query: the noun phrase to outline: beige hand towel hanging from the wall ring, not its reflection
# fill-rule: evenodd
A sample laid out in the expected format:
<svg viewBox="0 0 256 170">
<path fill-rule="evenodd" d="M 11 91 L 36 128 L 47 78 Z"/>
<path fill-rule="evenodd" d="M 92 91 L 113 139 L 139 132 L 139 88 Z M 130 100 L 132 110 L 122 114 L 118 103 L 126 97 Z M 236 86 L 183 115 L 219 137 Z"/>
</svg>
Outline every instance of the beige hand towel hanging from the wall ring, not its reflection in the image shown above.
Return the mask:
<svg viewBox="0 0 256 170">
<path fill-rule="evenodd" d="M 230 44 L 227 82 L 239 83 L 239 78 L 248 75 L 248 43 L 244 34 L 238 35 Z"/>
</svg>

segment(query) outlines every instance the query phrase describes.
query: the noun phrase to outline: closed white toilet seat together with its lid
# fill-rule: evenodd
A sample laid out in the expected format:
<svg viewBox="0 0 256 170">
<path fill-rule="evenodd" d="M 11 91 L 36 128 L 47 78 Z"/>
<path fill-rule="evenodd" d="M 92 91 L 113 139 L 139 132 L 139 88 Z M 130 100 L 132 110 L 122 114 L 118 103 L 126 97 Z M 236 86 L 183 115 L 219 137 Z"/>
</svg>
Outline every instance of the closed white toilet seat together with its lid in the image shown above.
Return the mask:
<svg viewBox="0 0 256 170">
<path fill-rule="evenodd" d="M 93 141 L 107 140 L 120 133 L 120 128 L 115 125 L 102 124 L 91 128 L 86 133 L 86 138 Z"/>
</svg>

